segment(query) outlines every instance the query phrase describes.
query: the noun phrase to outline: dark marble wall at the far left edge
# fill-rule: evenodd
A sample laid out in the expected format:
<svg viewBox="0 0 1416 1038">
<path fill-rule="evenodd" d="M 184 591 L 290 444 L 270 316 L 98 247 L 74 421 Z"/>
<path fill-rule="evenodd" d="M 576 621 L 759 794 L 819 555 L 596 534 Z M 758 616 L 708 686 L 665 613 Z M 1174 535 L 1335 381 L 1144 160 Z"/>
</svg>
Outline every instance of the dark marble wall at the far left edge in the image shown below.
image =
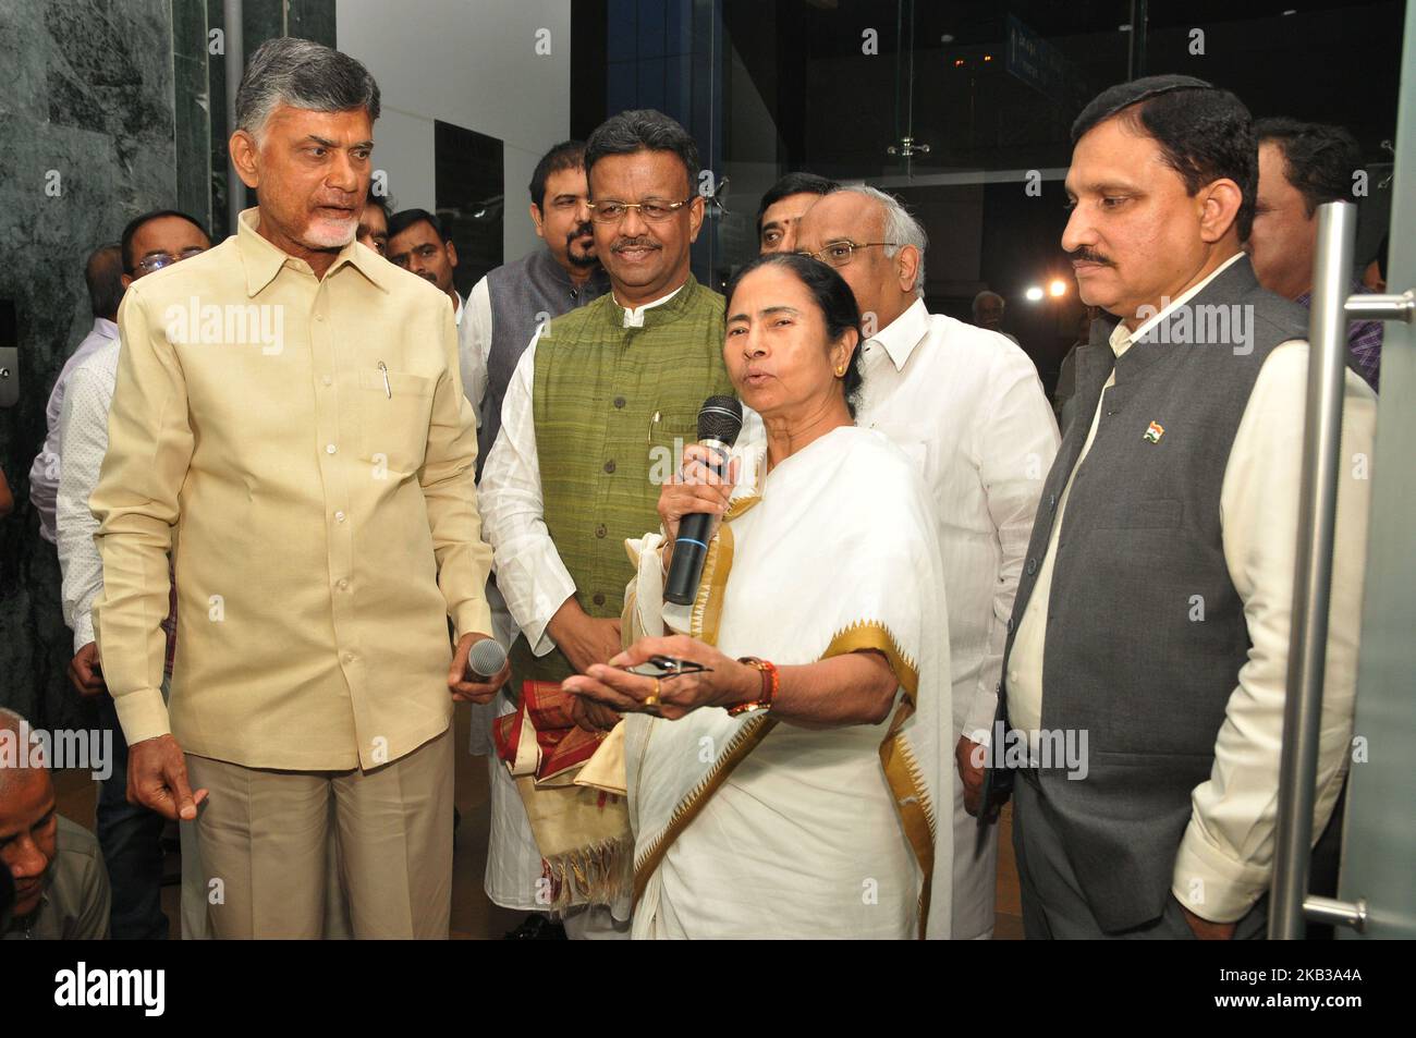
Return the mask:
<svg viewBox="0 0 1416 1038">
<path fill-rule="evenodd" d="M 171 0 L 6 0 L 0 7 L 0 299 L 18 317 L 20 401 L 0 411 L 0 705 L 82 724 L 58 558 L 30 506 L 50 388 L 92 324 L 84 261 L 176 198 Z M 48 190 L 47 190 L 48 188 Z"/>
</svg>

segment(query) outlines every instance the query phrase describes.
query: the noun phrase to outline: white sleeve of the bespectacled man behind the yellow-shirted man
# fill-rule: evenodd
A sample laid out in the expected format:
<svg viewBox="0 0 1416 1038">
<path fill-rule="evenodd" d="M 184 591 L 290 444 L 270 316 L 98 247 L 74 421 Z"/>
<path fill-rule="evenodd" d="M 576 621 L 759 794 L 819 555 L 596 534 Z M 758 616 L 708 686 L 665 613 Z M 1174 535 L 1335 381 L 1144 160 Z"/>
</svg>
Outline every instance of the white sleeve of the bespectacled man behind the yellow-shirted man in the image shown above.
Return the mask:
<svg viewBox="0 0 1416 1038">
<path fill-rule="evenodd" d="M 103 589 L 103 561 L 93 544 L 98 520 L 88 498 L 108 452 L 108 408 L 113 387 L 86 365 L 69 377 L 59 418 L 59 486 L 55 528 L 62 574 L 64 622 L 74 630 L 74 651 L 93 640 L 93 599 Z"/>
</svg>

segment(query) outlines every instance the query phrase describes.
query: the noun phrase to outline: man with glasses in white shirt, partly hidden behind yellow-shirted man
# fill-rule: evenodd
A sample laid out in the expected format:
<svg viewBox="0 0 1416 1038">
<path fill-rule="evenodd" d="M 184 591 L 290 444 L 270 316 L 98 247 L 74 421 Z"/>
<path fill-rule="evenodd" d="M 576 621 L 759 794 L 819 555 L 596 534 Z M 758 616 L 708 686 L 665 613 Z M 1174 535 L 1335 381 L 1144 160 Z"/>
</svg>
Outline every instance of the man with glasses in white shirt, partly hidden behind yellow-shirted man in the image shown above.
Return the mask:
<svg viewBox="0 0 1416 1038">
<path fill-rule="evenodd" d="M 135 218 L 123 228 L 119 255 L 122 287 L 210 248 L 201 225 L 184 212 L 159 210 Z M 115 306 L 116 320 L 116 306 Z M 98 520 L 88 498 L 98 486 L 108 452 L 108 411 L 118 375 L 118 326 L 71 377 L 59 419 L 64 466 L 55 501 L 59 569 L 64 574 L 64 620 L 74 630 L 69 681 L 79 695 L 95 697 L 101 725 L 113 732 L 112 775 L 99 786 L 96 830 L 113 891 L 113 937 L 163 939 L 167 916 L 161 908 L 166 820 L 127 802 L 127 743 L 113 700 L 103 684 L 93 640 L 93 602 L 103 589 L 103 562 L 93 545 Z M 171 674 L 174 619 L 169 613 L 166 673 Z M 195 848 L 187 848 L 194 854 Z M 184 854 L 184 865 L 187 855 Z M 190 869 L 184 868 L 184 872 Z"/>
</svg>

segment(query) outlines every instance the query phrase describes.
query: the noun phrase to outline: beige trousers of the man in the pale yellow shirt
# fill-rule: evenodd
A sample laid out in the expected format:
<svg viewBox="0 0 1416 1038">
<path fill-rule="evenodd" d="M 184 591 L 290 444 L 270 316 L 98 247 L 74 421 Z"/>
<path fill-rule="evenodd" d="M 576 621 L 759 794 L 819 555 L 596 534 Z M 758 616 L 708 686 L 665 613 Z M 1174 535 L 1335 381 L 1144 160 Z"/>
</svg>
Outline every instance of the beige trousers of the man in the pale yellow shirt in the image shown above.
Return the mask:
<svg viewBox="0 0 1416 1038">
<path fill-rule="evenodd" d="M 372 770 L 280 772 L 187 755 L 218 939 L 326 935 L 330 845 L 355 937 L 446 939 L 452 729 Z"/>
</svg>

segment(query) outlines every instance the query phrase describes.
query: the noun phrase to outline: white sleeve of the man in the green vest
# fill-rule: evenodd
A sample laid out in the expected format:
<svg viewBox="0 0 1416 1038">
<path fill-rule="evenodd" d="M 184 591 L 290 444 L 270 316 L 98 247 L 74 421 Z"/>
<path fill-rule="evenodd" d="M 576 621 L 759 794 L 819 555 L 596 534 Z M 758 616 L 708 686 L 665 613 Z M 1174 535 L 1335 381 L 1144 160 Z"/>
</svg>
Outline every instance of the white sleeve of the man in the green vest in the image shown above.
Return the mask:
<svg viewBox="0 0 1416 1038">
<path fill-rule="evenodd" d="M 497 588 L 507 610 L 537 656 L 555 647 L 547 624 L 575 593 L 571 571 L 561 561 L 545 525 L 541 462 L 535 445 L 531 392 L 535 377 L 537 331 L 521 354 L 501 404 L 501 432 L 487 455 L 477 497 L 483 528 L 493 551 Z"/>
</svg>

